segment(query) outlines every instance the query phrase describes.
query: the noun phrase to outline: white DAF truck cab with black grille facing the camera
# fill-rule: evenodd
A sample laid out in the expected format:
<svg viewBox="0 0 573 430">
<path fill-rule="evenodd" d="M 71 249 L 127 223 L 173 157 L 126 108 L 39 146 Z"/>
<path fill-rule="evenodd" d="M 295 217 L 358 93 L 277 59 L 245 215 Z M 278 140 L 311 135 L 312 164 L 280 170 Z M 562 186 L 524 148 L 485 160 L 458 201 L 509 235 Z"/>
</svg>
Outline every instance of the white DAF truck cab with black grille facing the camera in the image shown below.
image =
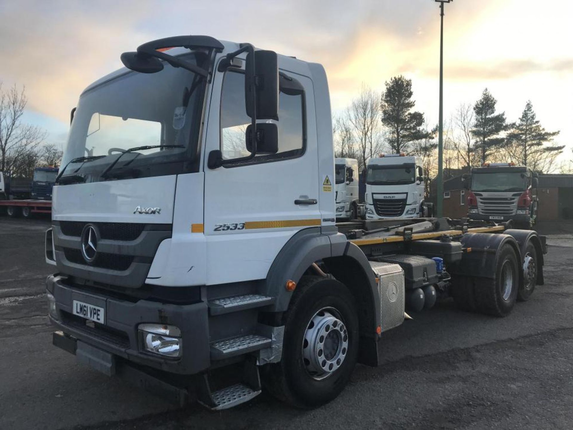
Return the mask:
<svg viewBox="0 0 573 430">
<path fill-rule="evenodd" d="M 382 154 L 370 158 L 366 170 L 367 220 L 424 216 L 421 158 Z"/>
</svg>

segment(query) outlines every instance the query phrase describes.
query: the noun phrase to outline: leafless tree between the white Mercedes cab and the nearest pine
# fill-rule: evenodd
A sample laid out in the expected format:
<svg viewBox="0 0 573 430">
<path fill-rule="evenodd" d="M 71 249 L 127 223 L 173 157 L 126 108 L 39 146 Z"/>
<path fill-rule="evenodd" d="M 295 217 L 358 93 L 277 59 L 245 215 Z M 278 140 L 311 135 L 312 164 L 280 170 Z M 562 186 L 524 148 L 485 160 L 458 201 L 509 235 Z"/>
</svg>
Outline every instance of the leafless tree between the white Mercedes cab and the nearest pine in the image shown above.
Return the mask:
<svg viewBox="0 0 573 430">
<path fill-rule="evenodd" d="M 382 149 L 382 130 L 380 127 L 380 94 L 362 85 L 360 95 L 352 100 L 347 111 L 348 122 L 354 128 L 358 144 L 358 170 L 366 167 L 369 158 Z"/>
</svg>

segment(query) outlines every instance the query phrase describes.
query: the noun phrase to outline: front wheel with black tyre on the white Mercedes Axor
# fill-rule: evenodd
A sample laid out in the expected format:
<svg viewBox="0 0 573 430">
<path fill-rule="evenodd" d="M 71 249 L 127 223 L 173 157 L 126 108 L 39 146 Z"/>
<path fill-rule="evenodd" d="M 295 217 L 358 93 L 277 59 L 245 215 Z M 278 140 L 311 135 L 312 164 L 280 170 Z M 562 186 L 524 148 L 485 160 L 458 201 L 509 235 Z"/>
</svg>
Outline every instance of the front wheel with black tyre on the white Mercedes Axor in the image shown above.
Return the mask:
<svg viewBox="0 0 573 430">
<path fill-rule="evenodd" d="M 328 315 L 337 320 L 336 325 L 332 322 L 330 326 L 332 319 Z M 273 396 L 299 408 L 315 408 L 336 398 L 350 380 L 358 358 L 358 316 L 354 296 L 335 279 L 303 276 L 282 323 L 285 326 L 282 359 L 261 368 L 265 388 Z M 328 333 L 327 338 L 320 343 L 324 333 Z M 338 343 L 332 342 L 335 338 Z M 324 347 L 324 352 L 320 347 Z M 327 362 L 324 370 L 320 369 L 326 362 L 323 358 L 336 361 Z M 321 361 L 317 363 L 315 359 Z M 332 365 L 337 367 L 328 370 Z"/>
</svg>

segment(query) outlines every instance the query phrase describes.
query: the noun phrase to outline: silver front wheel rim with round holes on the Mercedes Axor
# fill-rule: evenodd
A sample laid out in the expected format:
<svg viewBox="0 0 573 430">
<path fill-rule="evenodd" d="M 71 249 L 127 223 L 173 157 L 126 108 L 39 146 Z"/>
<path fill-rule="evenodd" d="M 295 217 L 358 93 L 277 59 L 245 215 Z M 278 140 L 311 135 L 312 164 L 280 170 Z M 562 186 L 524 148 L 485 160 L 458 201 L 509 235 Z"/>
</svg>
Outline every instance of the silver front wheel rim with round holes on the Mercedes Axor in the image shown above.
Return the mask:
<svg viewBox="0 0 573 430">
<path fill-rule="evenodd" d="M 316 380 L 336 371 L 348 352 L 348 331 L 333 308 L 323 308 L 312 317 L 303 339 L 303 362 Z"/>
</svg>

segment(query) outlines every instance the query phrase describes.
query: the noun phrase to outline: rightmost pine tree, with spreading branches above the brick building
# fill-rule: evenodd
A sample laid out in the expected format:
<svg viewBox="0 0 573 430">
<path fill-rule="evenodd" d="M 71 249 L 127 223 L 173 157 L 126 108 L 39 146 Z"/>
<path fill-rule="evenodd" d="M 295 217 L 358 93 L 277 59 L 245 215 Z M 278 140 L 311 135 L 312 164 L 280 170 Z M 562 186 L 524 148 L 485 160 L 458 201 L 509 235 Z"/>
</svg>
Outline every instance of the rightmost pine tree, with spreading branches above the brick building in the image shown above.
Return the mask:
<svg viewBox="0 0 573 430">
<path fill-rule="evenodd" d="M 508 134 L 508 153 L 516 163 L 531 167 L 535 171 L 545 171 L 551 167 L 555 158 L 563 153 L 563 146 L 547 145 L 559 134 L 559 131 L 545 131 L 536 119 L 531 101 L 517 123 L 511 124 Z"/>
</svg>

